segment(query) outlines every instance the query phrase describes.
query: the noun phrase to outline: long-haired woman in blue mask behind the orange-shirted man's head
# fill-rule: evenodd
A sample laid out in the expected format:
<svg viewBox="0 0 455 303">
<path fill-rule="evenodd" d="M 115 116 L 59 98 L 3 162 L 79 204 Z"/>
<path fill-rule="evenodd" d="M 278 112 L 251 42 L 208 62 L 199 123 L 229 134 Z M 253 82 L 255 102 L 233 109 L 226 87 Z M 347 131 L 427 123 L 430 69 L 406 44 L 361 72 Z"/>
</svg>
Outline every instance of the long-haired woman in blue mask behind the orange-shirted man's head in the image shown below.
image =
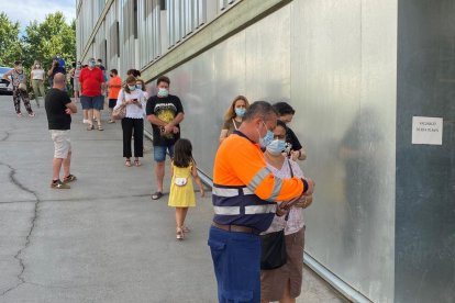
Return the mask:
<svg viewBox="0 0 455 303">
<path fill-rule="evenodd" d="M 229 106 L 224 114 L 224 124 L 220 134 L 220 143 L 222 143 L 234 131 L 238 130 L 242 124 L 243 115 L 248 109 L 248 100 L 244 96 L 237 96 Z"/>
</svg>

